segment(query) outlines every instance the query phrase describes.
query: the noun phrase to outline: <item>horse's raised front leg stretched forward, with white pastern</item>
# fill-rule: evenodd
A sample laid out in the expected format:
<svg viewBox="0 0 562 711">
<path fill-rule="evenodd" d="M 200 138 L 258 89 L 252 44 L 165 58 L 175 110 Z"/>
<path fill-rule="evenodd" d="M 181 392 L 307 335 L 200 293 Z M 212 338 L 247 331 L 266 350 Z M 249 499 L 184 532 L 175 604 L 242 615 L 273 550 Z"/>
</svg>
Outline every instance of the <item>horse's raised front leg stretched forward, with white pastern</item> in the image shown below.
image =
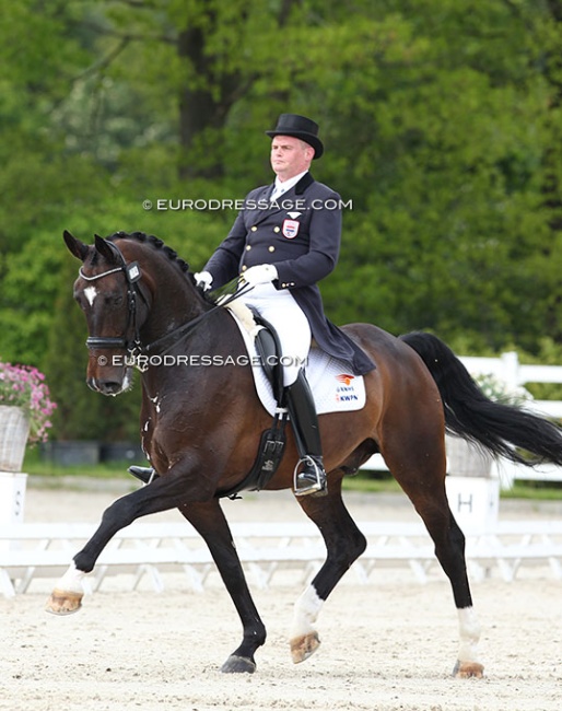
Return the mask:
<svg viewBox="0 0 562 711">
<path fill-rule="evenodd" d="M 82 584 L 84 575 L 92 572 L 106 545 L 121 528 L 140 516 L 175 509 L 186 500 L 186 497 L 192 496 L 195 499 L 212 497 L 212 492 L 204 492 L 201 488 L 194 491 L 192 487 L 186 483 L 187 481 L 179 471 L 174 473 L 171 469 L 165 477 L 156 479 L 150 487 L 142 487 L 114 501 L 104 511 L 97 531 L 84 548 L 74 556 L 70 568 L 57 582 L 47 601 L 46 610 L 55 615 L 69 615 L 80 609 L 84 596 Z"/>
</svg>

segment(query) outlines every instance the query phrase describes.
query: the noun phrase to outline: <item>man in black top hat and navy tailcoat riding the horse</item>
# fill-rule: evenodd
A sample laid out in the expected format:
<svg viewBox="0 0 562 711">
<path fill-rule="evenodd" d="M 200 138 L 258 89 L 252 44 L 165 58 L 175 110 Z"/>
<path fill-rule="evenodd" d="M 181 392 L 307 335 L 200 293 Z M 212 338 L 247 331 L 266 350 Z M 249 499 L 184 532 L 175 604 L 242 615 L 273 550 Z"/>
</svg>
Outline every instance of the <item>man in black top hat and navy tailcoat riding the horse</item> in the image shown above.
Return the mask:
<svg viewBox="0 0 562 711">
<path fill-rule="evenodd" d="M 341 200 L 309 173 L 324 145 L 318 125 L 282 114 L 272 131 L 272 185 L 256 188 L 244 201 L 232 230 L 203 271 L 203 289 L 239 276 L 253 287 L 244 296 L 279 336 L 286 404 L 301 457 L 295 476 L 298 497 L 326 491 L 326 473 L 314 399 L 301 368 L 314 338 L 319 348 L 346 361 L 355 375 L 374 363 L 324 315 L 316 285 L 336 267 L 341 242 Z"/>
</svg>

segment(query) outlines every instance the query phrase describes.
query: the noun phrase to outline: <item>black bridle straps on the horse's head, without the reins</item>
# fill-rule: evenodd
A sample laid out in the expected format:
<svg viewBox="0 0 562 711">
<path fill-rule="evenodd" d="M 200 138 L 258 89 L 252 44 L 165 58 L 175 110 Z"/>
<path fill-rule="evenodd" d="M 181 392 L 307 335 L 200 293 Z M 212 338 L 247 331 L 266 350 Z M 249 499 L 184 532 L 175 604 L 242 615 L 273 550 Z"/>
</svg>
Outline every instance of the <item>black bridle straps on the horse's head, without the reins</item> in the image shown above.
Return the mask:
<svg viewBox="0 0 562 711">
<path fill-rule="evenodd" d="M 86 338 L 86 347 L 91 350 L 97 348 L 122 348 L 127 350 L 130 356 L 134 356 L 142 348 L 138 323 L 138 299 L 142 299 L 144 304 L 147 306 L 149 305 L 147 298 L 138 285 L 142 273 L 137 261 L 127 264 L 119 247 L 113 242 L 107 242 L 107 244 L 114 250 L 120 265 L 115 267 L 115 269 L 108 269 L 107 271 L 103 271 L 101 275 L 94 275 L 93 277 L 87 277 L 82 267 L 80 268 L 79 273 L 82 279 L 85 279 L 85 281 L 97 281 L 98 279 L 103 279 L 104 277 L 108 277 L 109 275 L 119 271 L 125 275 L 127 282 L 127 326 L 125 328 L 125 334 L 121 337 L 90 336 Z M 129 331 L 132 333 L 132 338 L 128 337 Z"/>
</svg>

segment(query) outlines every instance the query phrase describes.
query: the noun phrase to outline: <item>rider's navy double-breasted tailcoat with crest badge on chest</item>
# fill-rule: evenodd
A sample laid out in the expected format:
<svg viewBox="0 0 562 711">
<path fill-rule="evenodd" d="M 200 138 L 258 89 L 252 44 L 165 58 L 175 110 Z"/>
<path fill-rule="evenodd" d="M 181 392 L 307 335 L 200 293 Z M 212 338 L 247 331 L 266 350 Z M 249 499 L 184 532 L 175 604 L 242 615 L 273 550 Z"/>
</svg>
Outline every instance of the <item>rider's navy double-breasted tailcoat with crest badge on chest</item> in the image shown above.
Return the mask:
<svg viewBox="0 0 562 711">
<path fill-rule="evenodd" d="M 272 185 L 251 190 L 229 235 L 207 263 L 212 287 L 249 267 L 272 264 L 277 289 L 289 289 L 305 313 L 318 346 L 348 363 L 353 374 L 375 368 L 368 356 L 324 314 L 317 282 L 336 267 L 341 243 L 340 196 L 306 173 L 277 201 Z"/>
</svg>

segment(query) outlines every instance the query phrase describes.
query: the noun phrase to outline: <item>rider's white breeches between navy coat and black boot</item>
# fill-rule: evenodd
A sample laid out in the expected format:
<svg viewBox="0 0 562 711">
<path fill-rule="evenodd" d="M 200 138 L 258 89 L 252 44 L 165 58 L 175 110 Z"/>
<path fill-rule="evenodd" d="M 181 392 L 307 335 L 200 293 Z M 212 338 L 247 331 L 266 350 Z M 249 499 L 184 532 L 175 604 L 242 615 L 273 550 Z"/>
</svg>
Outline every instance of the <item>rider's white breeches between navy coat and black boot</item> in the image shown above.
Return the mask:
<svg viewBox="0 0 562 711">
<path fill-rule="evenodd" d="M 273 284 L 258 284 L 244 296 L 248 306 L 276 328 L 281 341 L 283 384 L 292 385 L 301 368 L 306 364 L 311 350 L 312 333 L 308 319 L 286 289 L 277 290 Z"/>
</svg>

